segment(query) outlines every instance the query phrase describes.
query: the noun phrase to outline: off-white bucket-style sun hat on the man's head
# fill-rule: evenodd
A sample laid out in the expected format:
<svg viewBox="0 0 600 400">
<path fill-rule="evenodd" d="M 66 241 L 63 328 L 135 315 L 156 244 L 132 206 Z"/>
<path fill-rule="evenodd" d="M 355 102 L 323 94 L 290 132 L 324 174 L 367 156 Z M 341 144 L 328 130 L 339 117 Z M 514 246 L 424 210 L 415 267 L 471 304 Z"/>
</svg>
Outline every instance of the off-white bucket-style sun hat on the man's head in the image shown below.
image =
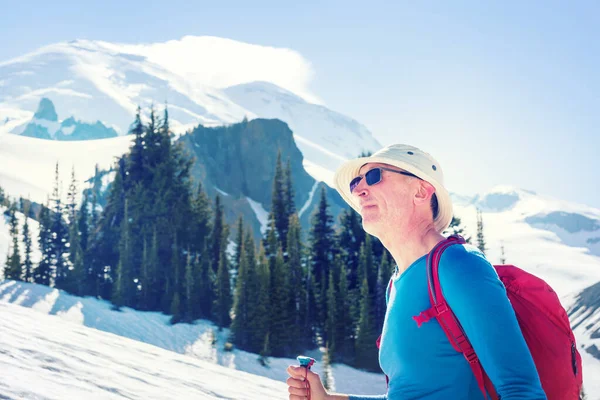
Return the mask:
<svg viewBox="0 0 600 400">
<path fill-rule="evenodd" d="M 393 144 L 369 157 L 344 162 L 336 171 L 333 181 L 342 198 L 360 213 L 358 198 L 350 193 L 350 181 L 358 176 L 360 168 L 367 163 L 389 164 L 408 171 L 435 188 L 438 199 L 438 215 L 434 221 L 438 232 L 443 232 L 452 221 L 452 201 L 444 187 L 444 173 L 440 164 L 428 153 L 405 144 Z"/>
</svg>

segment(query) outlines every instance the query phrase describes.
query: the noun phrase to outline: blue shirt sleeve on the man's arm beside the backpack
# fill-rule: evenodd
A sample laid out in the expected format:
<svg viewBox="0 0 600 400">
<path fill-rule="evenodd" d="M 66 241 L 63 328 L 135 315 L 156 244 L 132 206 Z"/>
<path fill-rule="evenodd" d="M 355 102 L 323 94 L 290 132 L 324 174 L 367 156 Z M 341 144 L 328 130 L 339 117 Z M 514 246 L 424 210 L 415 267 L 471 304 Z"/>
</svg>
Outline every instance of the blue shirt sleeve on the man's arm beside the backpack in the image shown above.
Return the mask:
<svg viewBox="0 0 600 400">
<path fill-rule="evenodd" d="M 546 400 L 533 358 L 496 270 L 472 246 L 449 247 L 442 292 L 502 400 Z"/>
</svg>

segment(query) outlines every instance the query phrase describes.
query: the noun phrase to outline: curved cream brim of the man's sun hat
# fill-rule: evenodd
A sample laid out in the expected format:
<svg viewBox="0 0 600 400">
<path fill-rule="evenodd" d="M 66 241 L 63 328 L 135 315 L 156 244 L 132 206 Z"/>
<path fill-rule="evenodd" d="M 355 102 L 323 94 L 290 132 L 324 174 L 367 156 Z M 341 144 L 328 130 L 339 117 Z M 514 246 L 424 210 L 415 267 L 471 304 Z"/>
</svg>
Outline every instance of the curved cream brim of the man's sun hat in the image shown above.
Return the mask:
<svg viewBox="0 0 600 400">
<path fill-rule="evenodd" d="M 436 179 L 434 179 L 434 177 L 424 173 L 414 165 L 400 160 L 394 160 L 380 156 L 360 157 L 353 160 L 348 160 L 338 168 L 333 177 L 336 190 L 346 201 L 346 203 L 348 203 L 357 213 L 360 214 L 360 206 L 358 199 L 353 196 L 352 193 L 350 193 L 350 181 L 359 175 L 358 172 L 363 165 L 369 163 L 392 165 L 408 171 L 424 181 L 429 182 L 435 188 L 435 193 L 438 199 L 438 215 L 433 221 L 435 229 L 442 233 L 448 228 L 448 226 L 450 226 L 453 214 L 452 200 L 450 199 L 450 194 L 446 188 L 442 186 Z"/>
</svg>

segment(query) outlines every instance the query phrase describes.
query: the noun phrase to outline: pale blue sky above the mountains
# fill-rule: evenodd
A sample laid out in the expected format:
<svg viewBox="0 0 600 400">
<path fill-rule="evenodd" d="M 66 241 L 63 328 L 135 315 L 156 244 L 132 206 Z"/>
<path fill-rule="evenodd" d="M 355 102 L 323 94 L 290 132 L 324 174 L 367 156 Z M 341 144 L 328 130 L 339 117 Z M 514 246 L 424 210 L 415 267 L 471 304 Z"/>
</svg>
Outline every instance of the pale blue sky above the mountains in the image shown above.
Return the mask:
<svg viewBox="0 0 600 400">
<path fill-rule="evenodd" d="M 526 3 L 526 4 L 525 4 Z M 600 5 L 559 1 L 11 2 L 0 61 L 73 39 L 210 35 L 289 48 L 328 108 L 441 163 L 450 191 L 509 184 L 600 208 Z"/>
</svg>

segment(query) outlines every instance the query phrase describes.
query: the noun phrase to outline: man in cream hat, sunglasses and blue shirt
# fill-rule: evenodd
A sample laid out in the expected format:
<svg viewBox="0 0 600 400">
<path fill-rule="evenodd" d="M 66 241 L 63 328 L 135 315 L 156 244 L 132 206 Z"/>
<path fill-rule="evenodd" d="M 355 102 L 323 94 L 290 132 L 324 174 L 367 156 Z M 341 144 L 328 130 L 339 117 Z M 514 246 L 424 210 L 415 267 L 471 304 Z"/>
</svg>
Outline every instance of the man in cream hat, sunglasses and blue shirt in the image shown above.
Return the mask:
<svg viewBox="0 0 600 400">
<path fill-rule="evenodd" d="M 437 319 L 421 327 L 413 319 L 430 307 L 426 256 L 445 239 L 442 232 L 452 220 L 439 163 L 415 147 L 392 145 L 344 163 L 334 180 L 360 213 L 364 230 L 379 238 L 397 265 L 379 350 L 389 386 L 381 396 L 330 394 L 317 374 L 290 366 L 290 400 L 483 399 L 468 362 Z M 546 399 L 505 288 L 484 255 L 470 245 L 451 246 L 441 258 L 439 277 L 446 301 L 502 400 Z"/>
</svg>

